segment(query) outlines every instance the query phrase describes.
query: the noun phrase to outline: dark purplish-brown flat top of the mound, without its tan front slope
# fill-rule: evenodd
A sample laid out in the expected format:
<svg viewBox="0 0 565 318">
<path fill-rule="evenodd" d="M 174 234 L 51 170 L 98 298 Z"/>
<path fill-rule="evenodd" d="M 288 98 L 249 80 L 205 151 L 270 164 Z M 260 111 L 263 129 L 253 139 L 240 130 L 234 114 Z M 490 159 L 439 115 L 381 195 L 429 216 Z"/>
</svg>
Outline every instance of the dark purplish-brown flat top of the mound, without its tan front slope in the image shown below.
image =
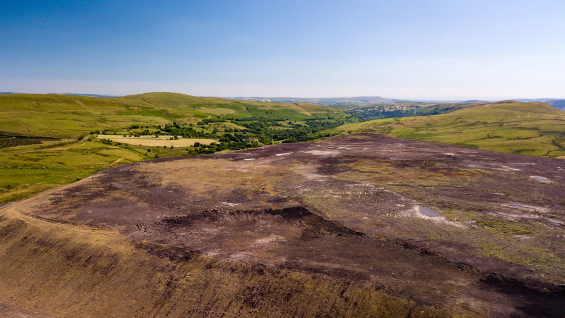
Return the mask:
<svg viewBox="0 0 565 318">
<path fill-rule="evenodd" d="M 565 314 L 565 161 L 383 135 L 138 162 L 15 204 L 472 315 Z M 437 216 L 426 216 L 427 207 Z"/>
</svg>

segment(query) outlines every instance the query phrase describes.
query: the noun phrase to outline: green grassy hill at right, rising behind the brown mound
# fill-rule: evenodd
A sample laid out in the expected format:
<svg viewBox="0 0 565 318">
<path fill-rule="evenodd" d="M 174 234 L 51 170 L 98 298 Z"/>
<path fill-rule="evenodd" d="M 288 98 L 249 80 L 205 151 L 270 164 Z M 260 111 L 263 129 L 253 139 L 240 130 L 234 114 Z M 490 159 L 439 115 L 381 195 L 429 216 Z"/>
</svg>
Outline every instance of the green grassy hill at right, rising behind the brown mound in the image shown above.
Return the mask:
<svg viewBox="0 0 565 318">
<path fill-rule="evenodd" d="M 374 132 L 532 156 L 565 156 L 565 113 L 542 103 L 505 101 L 426 117 L 346 124 L 333 132 Z"/>
</svg>

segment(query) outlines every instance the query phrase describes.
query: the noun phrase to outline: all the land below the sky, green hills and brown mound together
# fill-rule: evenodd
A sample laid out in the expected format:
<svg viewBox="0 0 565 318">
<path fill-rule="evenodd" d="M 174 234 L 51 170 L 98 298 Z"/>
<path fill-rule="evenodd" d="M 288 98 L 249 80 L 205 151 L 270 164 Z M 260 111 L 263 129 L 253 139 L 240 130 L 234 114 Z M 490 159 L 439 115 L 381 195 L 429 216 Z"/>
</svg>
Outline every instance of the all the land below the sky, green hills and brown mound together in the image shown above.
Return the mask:
<svg viewBox="0 0 565 318">
<path fill-rule="evenodd" d="M 564 314 L 565 113 L 544 102 L 0 109 L 0 315 Z"/>
</svg>

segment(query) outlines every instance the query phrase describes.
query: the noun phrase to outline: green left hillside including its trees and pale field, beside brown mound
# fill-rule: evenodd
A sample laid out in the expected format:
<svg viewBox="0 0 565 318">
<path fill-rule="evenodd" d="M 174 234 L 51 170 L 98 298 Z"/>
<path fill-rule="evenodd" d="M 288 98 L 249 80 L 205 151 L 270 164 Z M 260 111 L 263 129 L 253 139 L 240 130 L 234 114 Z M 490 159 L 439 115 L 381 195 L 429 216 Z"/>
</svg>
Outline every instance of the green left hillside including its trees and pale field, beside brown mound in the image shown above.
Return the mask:
<svg viewBox="0 0 565 318">
<path fill-rule="evenodd" d="M 1 95 L 0 203 L 114 165 L 311 140 L 323 136 L 322 130 L 355 121 L 320 105 L 177 93 Z"/>
</svg>

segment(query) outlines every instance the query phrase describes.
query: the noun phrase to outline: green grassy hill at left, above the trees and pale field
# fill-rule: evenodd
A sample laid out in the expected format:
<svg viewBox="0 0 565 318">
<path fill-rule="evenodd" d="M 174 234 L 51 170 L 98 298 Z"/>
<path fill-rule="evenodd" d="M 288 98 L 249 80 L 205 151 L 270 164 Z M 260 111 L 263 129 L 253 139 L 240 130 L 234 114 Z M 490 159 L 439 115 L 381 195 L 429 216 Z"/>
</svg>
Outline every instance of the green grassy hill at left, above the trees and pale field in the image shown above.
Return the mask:
<svg viewBox="0 0 565 318">
<path fill-rule="evenodd" d="M 146 93 L 117 98 L 51 94 L 0 96 L 0 130 L 23 135 L 69 137 L 129 124 L 157 125 L 198 118 L 263 116 L 300 120 L 327 117 L 340 110 L 313 104 L 280 104 Z M 220 111 L 225 109 L 228 111 Z M 276 111 L 275 111 L 276 110 Z"/>
</svg>

